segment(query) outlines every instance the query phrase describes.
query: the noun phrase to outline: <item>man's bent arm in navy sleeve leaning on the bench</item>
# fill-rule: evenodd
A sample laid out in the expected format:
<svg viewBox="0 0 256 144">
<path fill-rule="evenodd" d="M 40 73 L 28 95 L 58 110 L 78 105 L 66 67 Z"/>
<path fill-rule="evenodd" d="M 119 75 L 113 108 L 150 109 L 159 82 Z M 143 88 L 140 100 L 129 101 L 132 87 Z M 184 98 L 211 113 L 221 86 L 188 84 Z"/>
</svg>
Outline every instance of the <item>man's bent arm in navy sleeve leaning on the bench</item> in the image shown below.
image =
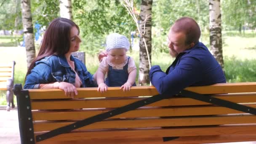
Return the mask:
<svg viewBox="0 0 256 144">
<path fill-rule="evenodd" d="M 159 66 L 150 69 L 149 77 L 152 85 L 160 94 L 177 94 L 182 89 L 194 84 L 202 73 L 200 61 L 194 57 L 181 58 L 180 63 L 168 74 Z"/>
</svg>

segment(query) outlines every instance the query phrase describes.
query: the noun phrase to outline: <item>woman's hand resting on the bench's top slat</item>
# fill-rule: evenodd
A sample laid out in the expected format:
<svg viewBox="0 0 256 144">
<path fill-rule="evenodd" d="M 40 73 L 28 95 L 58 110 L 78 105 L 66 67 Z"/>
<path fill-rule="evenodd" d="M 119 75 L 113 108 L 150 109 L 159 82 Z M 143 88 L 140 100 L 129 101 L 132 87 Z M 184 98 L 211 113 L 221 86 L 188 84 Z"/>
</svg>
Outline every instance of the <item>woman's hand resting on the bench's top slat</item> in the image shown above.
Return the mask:
<svg viewBox="0 0 256 144">
<path fill-rule="evenodd" d="M 74 99 L 74 96 L 77 95 L 77 88 L 71 83 L 60 82 L 59 89 L 65 91 L 65 95 Z"/>
</svg>

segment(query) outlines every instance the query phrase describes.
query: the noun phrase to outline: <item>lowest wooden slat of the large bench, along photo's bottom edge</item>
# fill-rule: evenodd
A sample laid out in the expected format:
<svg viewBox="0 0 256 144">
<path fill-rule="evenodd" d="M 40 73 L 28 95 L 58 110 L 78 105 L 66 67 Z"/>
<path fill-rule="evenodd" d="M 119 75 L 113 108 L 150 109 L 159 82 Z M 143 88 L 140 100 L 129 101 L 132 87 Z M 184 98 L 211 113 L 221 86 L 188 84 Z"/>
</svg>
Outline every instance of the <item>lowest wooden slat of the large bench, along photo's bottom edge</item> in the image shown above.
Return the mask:
<svg viewBox="0 0 256 144">
<path fill-rule="evenodd" d="M 50 141 L 47 139 L 36 144 L 205 144 L 256 141 L 256 134 L 246 135 L 217 135 L 217 136 L 183 136 L 171 141 L 163 138 L 128 138 L 128 139 L 83 139 L 77 141 Z M 60 139 L 61 140 L 61 139 Z"/>
</svg>

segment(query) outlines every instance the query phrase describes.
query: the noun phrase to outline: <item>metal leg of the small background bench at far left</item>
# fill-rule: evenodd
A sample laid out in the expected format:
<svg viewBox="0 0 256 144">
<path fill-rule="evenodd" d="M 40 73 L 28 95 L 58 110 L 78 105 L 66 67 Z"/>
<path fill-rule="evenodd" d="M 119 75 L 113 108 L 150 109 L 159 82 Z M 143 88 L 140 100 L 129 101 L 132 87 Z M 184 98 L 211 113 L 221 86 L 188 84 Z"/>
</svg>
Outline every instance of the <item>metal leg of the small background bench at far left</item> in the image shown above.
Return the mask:
<svg viewBox="0 0 256 144">
<path fill-rule="evenodd" d="M 7 107 L 6 107 L 7 111 L 10 111 L 11 107 L 12 108 L 15 107 L 13 103 L 13 80 L 12 79 L 7 80 L 6 101 L 7 101 Z"/>
</svg>

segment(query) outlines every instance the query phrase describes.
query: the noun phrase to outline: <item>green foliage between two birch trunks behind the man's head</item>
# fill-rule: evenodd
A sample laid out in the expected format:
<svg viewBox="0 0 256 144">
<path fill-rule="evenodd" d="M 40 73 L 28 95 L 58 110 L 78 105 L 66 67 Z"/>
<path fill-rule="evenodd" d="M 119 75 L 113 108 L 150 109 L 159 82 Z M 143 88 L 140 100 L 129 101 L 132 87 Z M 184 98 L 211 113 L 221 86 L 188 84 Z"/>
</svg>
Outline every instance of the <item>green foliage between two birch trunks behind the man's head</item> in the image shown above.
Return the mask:
<svg viewBox="0 0 256 144">
<path fill-rule="evenodd" d="M 198 3 L 196 3 L 198 1 Z M 195 19 L 201 29 L 209 24 L 207 0 L 157 0 L 152 7 L 152 48 L 157 52 L 168 53 L 166 37 L 176 21 L 183 16 Z M 199 13 L 200 12 L 200 13 Z"/>
</svg>

